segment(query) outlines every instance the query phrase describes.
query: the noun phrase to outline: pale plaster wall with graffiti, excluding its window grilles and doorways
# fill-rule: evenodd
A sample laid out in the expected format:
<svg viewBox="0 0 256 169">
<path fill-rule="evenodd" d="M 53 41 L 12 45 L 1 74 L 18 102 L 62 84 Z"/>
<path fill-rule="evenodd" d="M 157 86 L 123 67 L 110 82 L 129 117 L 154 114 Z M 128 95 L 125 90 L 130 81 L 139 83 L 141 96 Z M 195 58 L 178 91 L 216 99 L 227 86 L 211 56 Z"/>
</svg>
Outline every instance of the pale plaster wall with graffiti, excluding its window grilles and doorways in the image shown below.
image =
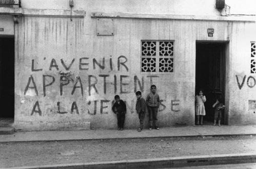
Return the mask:
<svg viewBox="0 0 256 169">
<path fill-rule="evenodd" d="M 91 123 L 93 129 L 115 129 L 116 116 L 111 111 L 115 94 L 127 105 L 125 128 L 137 128 L 135 91 L 141 90 L 145 97 L 151 84 L 157 86 L 161 99 L 160 127 L 176 123 L 194 125 L 197 40 L 229 41 L 226 61 L 228 122 L 255 124 L 255 113 L 249 113 L 248 101 L 256 100 L 256 87 L 252 78 L 248 84 L 253 87 L 246 83 L 249 76 L 255 78 L 249 72 L 250 41 L 255 41 L 251 36 L 255 34 L 252 31 L 255 24 L 203 17 L 193 19 L 192 15 L 220 15 L 215 1 L 172 2 L 129 1 L 127 5 L 128 1 L 75 1 L 74 10 L 86 10 L 84 18 L 20 17 L 15 35 L 18 42 L 15 128 L 86 129 Z M 37 3 L 40 2 L 23 1 L 23 8 L 70 9 L 68 1 Z M 139 18 L 113 17 L 114 35 L 99 36 L 97 17 L 92 16 L 92 12 L 105 12 L 109 16 L 111 13 L 142 15 Z M 172 19 L 163 14 L 189 16 Z M 108 22 L 112 22 L 111 17 Z M 215 29 L 214 37 L 207 36 L 208 28 Z M 174 40 L 174 73 L 141 73 L 141 40 Z M 241 60 L 246 62 L 241 64 Z M 240 89 L 244 76 L 246 80 Z M 147 121 L 148 117 L 145 126 Z"/>
</svg>

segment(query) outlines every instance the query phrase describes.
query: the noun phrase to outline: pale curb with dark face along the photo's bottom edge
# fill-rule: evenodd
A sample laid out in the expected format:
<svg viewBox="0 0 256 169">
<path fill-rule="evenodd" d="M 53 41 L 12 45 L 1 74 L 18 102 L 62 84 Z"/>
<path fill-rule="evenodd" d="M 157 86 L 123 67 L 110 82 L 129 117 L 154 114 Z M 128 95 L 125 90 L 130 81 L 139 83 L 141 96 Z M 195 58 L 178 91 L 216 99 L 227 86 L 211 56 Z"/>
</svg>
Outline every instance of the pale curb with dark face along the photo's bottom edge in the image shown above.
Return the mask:
<svg viewBox="0 0 256 169">
<path fill-rule="evenodd" d="M 55 164 L 41 166 L 11 167 L 8 169 L 36 169 L 36 168 L 164 168 L 164 167 L 185 167 L 199 165 L 238 164 L 256 162 L 256 153 L 223 154 L 223 155 L 202 155 L 167 157 L 153 159 L 136 159 L 122 161 Z"/>
</svg>

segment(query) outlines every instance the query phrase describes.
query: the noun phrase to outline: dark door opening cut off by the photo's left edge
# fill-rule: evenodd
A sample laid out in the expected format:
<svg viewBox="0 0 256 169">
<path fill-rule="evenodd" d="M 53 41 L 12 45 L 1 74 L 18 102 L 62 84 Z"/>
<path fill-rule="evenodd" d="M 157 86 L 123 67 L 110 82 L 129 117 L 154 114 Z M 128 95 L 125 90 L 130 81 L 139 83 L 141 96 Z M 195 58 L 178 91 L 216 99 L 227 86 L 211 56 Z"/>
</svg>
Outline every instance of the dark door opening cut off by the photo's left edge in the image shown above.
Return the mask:
<svg viewBox="0 0 256 169">
<path fill-rule="evenodd" d="M 14 118 L 13 37 L 0 37 L 0 117 Z"/>
</svg>

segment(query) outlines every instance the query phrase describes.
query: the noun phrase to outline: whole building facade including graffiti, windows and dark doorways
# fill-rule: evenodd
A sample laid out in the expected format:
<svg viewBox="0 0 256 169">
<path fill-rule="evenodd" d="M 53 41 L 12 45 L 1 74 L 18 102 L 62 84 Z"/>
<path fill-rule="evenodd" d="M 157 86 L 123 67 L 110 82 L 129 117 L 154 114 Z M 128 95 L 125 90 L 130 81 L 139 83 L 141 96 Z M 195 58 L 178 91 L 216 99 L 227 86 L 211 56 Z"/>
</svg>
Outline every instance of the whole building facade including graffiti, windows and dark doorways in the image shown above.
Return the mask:
<svg viewBox="0 0 256 169">
<path fill-rule="evenodd" d="M 145 98 L 155 84 L 160 127 L 194 125 L 201 88 L 207 122 L 222 98 L 223 124 L 256 124 L 252 2 L 247 10 L 218 0 L 2 3 L 1 116 L 16 130 L 115 129 L 118 94 L 124 128 L 135 129 L 135 92 Z"/>
</svg>

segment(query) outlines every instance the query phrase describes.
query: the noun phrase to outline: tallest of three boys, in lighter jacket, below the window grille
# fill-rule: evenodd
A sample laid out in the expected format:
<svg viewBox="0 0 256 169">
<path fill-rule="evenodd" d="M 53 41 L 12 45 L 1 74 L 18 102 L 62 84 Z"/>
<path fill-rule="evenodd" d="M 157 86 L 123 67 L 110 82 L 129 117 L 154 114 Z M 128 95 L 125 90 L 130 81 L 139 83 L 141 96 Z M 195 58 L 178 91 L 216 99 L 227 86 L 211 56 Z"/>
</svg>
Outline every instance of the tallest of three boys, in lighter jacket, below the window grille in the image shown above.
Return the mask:
<svg viewBox="0 0 256 169">
<path fill-rule="evenodd" d="M 157 126 L 157 113 L 160 105 L 160 99 L 159 99 L 159 95 L 156 93 L 156 90 L 157 90 L 156 85 L 152 85 L 151 93 L 147 94 L 146 96 L 146 105 L 148 107 L 148 114 L 150 116 L 149 130 L 152 130 L 153 122 L 154 122 L 155 128 L 159 130 L 159 127 Z"/>
</svg>

